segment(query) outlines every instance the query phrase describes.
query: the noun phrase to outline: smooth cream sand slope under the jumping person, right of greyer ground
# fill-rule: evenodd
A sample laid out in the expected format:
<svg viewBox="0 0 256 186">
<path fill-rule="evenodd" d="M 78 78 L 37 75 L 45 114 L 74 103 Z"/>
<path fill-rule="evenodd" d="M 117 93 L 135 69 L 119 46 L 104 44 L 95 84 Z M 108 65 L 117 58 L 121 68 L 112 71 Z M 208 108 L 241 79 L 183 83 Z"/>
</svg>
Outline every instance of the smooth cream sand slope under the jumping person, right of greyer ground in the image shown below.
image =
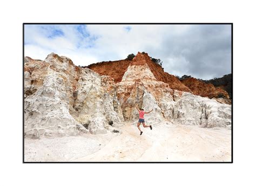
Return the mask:
<svg viewBox="0 0 256 186">
<path fill-rule="evenodd" d="M 231 161 L 231 130 L 184 125 L 122 128 L 105 147 L 73 161 Z"/>
</svg>

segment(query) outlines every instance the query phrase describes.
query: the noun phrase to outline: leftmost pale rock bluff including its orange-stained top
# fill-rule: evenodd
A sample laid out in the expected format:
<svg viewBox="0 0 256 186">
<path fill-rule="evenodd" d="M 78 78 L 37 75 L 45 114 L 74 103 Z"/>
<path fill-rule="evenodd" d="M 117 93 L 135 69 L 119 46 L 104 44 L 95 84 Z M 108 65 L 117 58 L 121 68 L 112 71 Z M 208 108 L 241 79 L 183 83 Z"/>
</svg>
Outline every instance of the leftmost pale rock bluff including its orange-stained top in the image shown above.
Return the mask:
<svg viewBox="0 0 256 186">
<path fill-rule="evenodd" d="M 55 54 L 50 54 L 45 61 L 30 60 L 25 63 L 25 100 L 24 100 L 24 129 L 25 136 L 38 138 L 40 136 L 77 135 L 86 132 L 69 113 L 72 92 L 71 80 L 64 73 L 68 68 L 74 70 L 60 58 L 51 61 Z M 58 69 L 58 70 L 57 70 Z M 75 72 L 73 72 L 75 74 Z M 69 81 L 68 81 L 69 79 Z"/>
</svg>

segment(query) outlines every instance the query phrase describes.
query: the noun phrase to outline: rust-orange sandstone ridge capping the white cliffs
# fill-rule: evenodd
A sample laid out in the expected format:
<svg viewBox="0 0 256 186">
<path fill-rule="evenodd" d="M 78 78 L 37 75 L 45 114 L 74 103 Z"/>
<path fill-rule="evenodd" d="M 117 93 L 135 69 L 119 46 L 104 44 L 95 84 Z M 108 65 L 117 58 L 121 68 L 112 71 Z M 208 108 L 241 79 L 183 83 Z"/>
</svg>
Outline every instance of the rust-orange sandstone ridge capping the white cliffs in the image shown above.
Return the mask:
<svg viewBox="0 0 256 186">
<path fill-rule="evenodd" d="M 201 97 L 208 98 L 224 98 L 229 100 L 228 93 L 222 88 L 215 88 L 212 84 L 206 84 L 196 78 L 188 78 L 179 80 L 172 74 L 164 72 L 163 68 L 154 63 L 147 53 L 138 52 L 132 60 L 117 60 L 109 62 L 101 62 L 87 66 L 91 70 L 99 73 L 100 75 L 109 75 L 114 79 L 114 82 L 122 81 L 123 75 L 127 68 L 131 65 L 145 65 L 147 64 L 150 71 L 158 81 L 163 81 L 169 84 L 170 88 L 179 91 L 190 92 Z M 231 101 L 227 101 L 228 104 Z"/>
</svg>

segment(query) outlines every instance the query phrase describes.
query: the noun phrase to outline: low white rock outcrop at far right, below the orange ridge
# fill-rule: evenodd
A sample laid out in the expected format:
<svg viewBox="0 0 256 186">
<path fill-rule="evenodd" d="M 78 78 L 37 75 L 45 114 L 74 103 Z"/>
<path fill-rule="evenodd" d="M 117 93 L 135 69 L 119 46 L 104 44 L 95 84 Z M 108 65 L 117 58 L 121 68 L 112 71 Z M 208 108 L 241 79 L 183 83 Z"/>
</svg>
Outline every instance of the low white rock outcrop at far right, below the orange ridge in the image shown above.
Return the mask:
<svg viewBox="0 0 256 186">
<path fill-rule="evenodd" d="M 202 127 L 226 127 L 231 125 L 231 107 L 227 104 L 183 93 L 174 104 L 171 121 L 183 125 Z"/>
</svg>

